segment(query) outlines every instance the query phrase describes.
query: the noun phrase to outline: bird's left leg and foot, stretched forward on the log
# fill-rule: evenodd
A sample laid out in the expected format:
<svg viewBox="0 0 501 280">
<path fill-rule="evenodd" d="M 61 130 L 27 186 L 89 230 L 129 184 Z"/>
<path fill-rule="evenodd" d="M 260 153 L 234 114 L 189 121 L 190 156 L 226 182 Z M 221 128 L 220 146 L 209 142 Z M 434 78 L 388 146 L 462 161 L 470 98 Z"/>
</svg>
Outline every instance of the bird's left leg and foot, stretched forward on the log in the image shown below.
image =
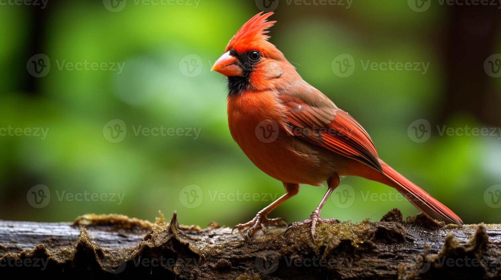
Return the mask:
<svg viewBox="0 0 501 280">
<path fill-rule="evenodd" d="M 238 231 L 243 231 L 247 229 L 247 234 L 249 236 L 254 235 L 258 229 L 262 229 L 263 232 L 266 232 L 266 227 L 265 225 L 272 224 L 272 225 L 283 225 L 284 221 L 285 224 L 287 225 L 288 222 L 284 218 L 268 218 L 267 215 L 275 209 L 278 205 L 282 204 L 285 200 L 291 198 L 292 196 L 296 195 L 299 191 L 299 184 L 294 184 L 294 183 L 284 183 L 285 190 L 287 193 L 284 195 L 280 196 L 277 200 L 275 200 L 272 204 L 266 206 L 263 210 L 259 211 L 258 214 L 252 219 L 249 220 L 246 223 L 239 223 L 233 227 L 234 229 L 238 229 Z"/>
</svg>

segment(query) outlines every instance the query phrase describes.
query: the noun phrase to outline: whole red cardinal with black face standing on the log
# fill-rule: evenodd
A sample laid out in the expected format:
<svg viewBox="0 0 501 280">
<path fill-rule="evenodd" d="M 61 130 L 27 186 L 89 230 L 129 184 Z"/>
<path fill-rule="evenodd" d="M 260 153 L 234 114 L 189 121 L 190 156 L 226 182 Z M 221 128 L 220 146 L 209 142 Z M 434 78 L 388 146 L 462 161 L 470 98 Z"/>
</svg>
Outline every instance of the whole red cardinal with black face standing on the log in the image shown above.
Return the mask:
<svg viewBox="0 0 501 280">
<path fill-rule="evenodd" d="M 381 160 L 365 129 L 301 78 L 268 41 L 266 29 L 276 21 L 267 18 L 273 12 L 262 13 L 240 27 L 212 70 L 227 76 L 231 136 L 256 166 L 284 183 L 286 193 L 235 228 L 253 235 L 267 224 L 281 225 L 284 219 L 267 215 L 297 194 L 300 183 L 327 181 L 326 194 L 304 221 L 315 239 L 320 211 L 347 175 L 392 186 L 429 217 L 462 224 L 453 211 Z"/>
</svg>

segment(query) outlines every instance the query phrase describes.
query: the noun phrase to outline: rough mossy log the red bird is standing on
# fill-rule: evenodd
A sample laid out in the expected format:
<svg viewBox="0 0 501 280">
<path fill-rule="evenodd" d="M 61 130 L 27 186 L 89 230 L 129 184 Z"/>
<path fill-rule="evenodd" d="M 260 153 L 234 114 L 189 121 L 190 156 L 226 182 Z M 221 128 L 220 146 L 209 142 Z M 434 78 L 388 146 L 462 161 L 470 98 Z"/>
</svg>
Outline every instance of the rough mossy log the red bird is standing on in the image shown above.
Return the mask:
<svg viewBox="0 0 501 280">
<path fill-rule="evenodd" d="M 402 220 L 269 228 L 248 238 L 212 222 L 184 226 L 87 214 L 74 223 L 0 221 L 4 279 L 501 279 L 501 224 Z"/>
</svg>

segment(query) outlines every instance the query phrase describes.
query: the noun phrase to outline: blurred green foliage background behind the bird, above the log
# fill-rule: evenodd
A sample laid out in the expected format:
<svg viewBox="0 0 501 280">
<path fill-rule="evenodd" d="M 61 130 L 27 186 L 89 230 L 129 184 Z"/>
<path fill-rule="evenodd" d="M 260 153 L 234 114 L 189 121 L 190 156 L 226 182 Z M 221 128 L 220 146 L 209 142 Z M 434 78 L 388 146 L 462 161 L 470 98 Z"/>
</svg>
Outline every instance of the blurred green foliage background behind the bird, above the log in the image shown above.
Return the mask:
<svg viewBox="0 0 501 280">
<path fill-rule="evenodd" d="M 0 136 L 0 219 L 70 221 L 94 212 L 154 220 L 158 210 L 166 216 L 178 210 L 180 223 L 202 227 L 212 220 L 229 226 L 248 221 L 271 202 L 262 193 L 278 197 L 284 189 L 233 142 L 225 78 L 209 70 L 259 4 L 128 0 L 117 8 L 107 1 L 0 6 L 0 127 L 49 129 L 45 139 Z M 306 81 L 365 127 L 387 163 L 463 221 L 501 222 L 501 186 L 490 187 L 501 183 L 501 135 L 441 136 L 436 129 L 501 126 L 501 78 L 483 68 L 501 49 L 499 11 L 432 4 L 416 12 L 401 0 L 346 4 L 281 0 L 271 41 Z M 51 63 L 43 77 L 29 70 L 39 53 Z M 331 67 L 343 53 L 355 59 L 349 77 Z M 425 74 L 363 70 L 359 62 L 390 59 L 429 67 Z M 84 61 L 125 64 L 120 73 L 60 69 Z M 106 132 L 114 119 L 127 129 L 119 142 L 109 141 Z M 431 125 L 431 137 L 422 143 L 408 134 L 416 119 Z M 139 125 L 194 127 L 200 134 L 135 135 Z M 353 186 L 352 204 L 340 207 L 334 197 L 322 217 L 379 220 L 392 207 L 404 217 L 418 212 L 407 201 L 385 199 L 396 193 L 389 186 L 358 177 L 341 183 Z M 39 184 L 51 195 L 41 208 L 32 206 L 31 191 Z M 306 219 L 325 190 L 304 185 L 270 217 Z M 110 196 L 61 197 L 86 192 L 124 196 L 122 203 Z M 367 198 L 373 193 L 377 198 Z"/>
</svg>

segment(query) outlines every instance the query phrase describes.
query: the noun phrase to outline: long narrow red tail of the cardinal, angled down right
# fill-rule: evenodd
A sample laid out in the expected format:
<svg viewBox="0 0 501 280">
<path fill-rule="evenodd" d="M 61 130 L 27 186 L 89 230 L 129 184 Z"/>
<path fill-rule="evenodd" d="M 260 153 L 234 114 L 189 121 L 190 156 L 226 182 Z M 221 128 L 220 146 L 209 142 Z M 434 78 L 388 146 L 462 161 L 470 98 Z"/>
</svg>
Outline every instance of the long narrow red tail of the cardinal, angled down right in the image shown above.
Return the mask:
<svg viewBox="0 0 501 280">
<path fill-rule="evenodd" d="M 447 206 L 440 203 L 422 188 L 395 171 L 383 160 L 379 159 L 379 162 L 383 167 L 383 174 L 387 179 L 384 178 L 378 181 L 396 188 L 409 200 L 409 202 L 414 204 L 416 208 L 429 217 L 441 221 L 463 224 L 463 221 L 451 209 L 447 208 Z"/>
</svg>

